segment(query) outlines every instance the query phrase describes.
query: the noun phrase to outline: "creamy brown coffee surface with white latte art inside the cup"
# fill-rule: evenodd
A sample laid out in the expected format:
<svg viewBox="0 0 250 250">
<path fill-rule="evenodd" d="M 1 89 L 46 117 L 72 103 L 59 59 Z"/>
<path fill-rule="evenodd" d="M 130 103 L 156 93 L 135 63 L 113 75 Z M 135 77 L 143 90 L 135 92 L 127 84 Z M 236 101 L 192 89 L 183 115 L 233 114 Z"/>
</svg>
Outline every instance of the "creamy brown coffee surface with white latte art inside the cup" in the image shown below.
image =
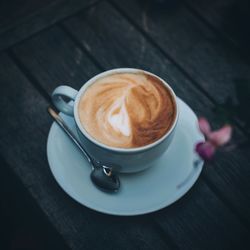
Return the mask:
<svg viewBox="0 0 250 250">
<path fill-rule="evenodd" d="M 146 73 L 116 73 L 98 79 L 81 96 L 79 118 L 97 141 L 135 148 L 160 139 L 176 116 L 174 97 Z"/>
</svg>

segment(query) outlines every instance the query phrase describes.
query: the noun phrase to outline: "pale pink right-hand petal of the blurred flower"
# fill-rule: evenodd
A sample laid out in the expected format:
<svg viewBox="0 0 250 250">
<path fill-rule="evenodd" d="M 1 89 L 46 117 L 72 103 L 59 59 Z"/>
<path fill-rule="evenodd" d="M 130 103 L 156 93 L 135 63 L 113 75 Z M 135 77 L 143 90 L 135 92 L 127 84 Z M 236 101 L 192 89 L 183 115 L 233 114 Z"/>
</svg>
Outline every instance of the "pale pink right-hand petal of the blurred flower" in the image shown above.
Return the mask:
<svg viewBox="0 0 250 250">
<path fill-rule="evenodd" d="M 214 131 L 209 134 L 208 140 L 211 141 L 215 146 L 223 146 L 232 137 L 232 127 L 225 125 L 221 129 Z"/>
</svg>

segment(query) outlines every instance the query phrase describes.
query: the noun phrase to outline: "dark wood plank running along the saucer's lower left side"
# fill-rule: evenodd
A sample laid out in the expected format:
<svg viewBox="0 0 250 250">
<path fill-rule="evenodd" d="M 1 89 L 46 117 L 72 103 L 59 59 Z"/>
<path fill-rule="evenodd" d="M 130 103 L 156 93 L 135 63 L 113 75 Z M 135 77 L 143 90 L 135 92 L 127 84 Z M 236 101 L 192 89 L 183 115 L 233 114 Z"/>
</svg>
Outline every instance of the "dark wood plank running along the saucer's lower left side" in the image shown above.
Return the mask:
<svg viewBox="0 0 250 250">
<path fill-rule="evenodd" d="M 143 217 L 96 213 L 73 201 L 59 188 L 46 159 L 51 125 L 46 112 L 48 103 L 7 55 L 2 54 L 0 58 L 3 95 L 0 103 L 4 107 L 0 112 L 0 152 L 68 246 L 72 249 L 171 249 L 154 225 Z"/>
</svg>

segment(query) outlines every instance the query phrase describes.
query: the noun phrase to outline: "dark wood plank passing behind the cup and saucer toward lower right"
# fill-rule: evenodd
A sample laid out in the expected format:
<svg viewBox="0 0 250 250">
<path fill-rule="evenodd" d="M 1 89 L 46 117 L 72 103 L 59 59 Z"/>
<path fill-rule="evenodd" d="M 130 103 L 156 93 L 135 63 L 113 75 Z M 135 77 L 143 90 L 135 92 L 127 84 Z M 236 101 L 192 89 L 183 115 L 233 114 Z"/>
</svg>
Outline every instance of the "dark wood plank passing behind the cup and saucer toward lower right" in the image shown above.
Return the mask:
<svg viewBox="0 0 250 250">
<path fill-rule="evenodd" d="M 95 16 L 94 21 L 92 16 Z M 116 23 L 116 26 L 110 29 L 110 23 Z M 173 63 L 151 46 L 109 5 L 102 4 L 100 8 L 92 9 L 88 15 L 82 13 L 67 21 L 65 25 L 77 38 L 76 42 L 79 41 L 97 58 L 103 68 L 138 67 L 155 72 L 166 79 L 177 95 L 191 105 L 197 114 L 205 115 L 215 126 L 218 126 L 216 115 L 212 112 L 214 107 L 212 103 L 200 94 Z M 27 48 L 30 48 L 30 45 Z M 33 59 L 25 60 L 27 48 L 18 48 L 18 52 L 23 58 L 23 63 L 30 68 L 35 65 L 37 59 L 33 56 Z M 35 52 L 32 54 L 34 55 Z M 241 139 L 244 139 L 244 135 L 236 130 L 235 140 Z M 249 154 L 246 152 L 248 152 L 246 149 L 238 149 L 228 154 L 218 155 L 216 162 L 205 169 L 204 178 L 216 187 L 216 192 L 229 201 L 244 218 L 243 220 L 249 222 L 250 196 L 246 190 L 249 190 L 250 170 Z"/>
</svg>

